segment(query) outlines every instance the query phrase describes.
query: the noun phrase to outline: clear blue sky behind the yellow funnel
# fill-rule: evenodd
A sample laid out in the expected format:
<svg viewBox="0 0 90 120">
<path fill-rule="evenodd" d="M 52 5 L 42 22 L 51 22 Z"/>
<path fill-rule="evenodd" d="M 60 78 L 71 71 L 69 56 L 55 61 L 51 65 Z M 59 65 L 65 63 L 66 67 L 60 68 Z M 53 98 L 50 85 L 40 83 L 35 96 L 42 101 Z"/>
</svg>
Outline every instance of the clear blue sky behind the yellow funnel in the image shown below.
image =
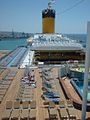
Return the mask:
<svg viewBox="0 0 90 120">
<path fill-rule="evenodd" d="M 90 21 L 90 0 L 84 0 L 73 9 L 63 13 L 81 0 L 56 0 L 55 32 L 84 34 Z M 42 10 L 50 0 L 0 0 L 0 31 L 27 33 L 42 32 Z"/>
</svg>

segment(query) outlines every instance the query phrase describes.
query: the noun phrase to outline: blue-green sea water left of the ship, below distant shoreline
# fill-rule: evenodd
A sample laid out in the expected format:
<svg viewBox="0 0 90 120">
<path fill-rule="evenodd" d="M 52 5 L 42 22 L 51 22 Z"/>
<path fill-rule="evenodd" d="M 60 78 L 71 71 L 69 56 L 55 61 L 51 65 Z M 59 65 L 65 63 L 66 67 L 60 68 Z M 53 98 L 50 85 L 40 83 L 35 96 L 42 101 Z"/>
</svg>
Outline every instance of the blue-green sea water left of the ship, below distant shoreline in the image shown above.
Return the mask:
<svg viewBox="0 0 90 120">
<path fill-rule="evenodd" d="M 27 44 L 26 38 L 24 39 L 2 39 L 0 41 L 0 50 L 13 50 L 18 46 Z"/>
</svg>

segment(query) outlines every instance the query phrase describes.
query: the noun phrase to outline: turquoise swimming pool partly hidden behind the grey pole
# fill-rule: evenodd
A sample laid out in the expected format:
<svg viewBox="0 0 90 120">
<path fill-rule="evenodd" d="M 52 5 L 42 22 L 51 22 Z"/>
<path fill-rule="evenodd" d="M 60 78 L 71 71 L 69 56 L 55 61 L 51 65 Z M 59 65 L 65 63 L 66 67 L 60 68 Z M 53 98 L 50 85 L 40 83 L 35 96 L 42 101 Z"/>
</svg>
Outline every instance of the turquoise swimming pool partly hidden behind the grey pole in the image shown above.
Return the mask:
<svg viewBox="0 0 90 120">
<path fill-rule="evenodd" d="M 72 85 L 80 95 L 80 97 L 83 97 L 83 86 L 84 86 L 84 81 L 71 81 Z M 90 82 L 88 84 L 88 90 L 90 91 Z M 90 92 L 88 92 L 87 95 L 87 100 L 90 102 Z"/>
</svg>

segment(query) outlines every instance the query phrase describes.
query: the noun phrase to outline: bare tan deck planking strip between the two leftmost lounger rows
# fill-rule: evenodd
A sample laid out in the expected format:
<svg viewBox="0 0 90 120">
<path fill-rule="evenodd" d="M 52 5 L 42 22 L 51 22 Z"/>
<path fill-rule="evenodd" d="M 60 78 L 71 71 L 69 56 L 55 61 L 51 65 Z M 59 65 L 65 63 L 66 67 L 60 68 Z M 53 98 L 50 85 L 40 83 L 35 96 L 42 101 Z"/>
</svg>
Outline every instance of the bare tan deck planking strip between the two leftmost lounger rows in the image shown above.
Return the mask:
<svg viewBox="0 0 90 120">
<path fill-rule="evenodd" d="M 24 74 L 24 69 L 19 69 L 15 78 L 12 81 L 12 84 L 9 86 L 9 89 L 6 95 L 4 96 L 2 103 L 0 104 L 0 120 L 1 120 L 2 113 L 5 110 L 6 101 L 15 99 L 16 93 L 19 89 L 19 81 L 22 78 L 23 74 Z"/>
</svg>

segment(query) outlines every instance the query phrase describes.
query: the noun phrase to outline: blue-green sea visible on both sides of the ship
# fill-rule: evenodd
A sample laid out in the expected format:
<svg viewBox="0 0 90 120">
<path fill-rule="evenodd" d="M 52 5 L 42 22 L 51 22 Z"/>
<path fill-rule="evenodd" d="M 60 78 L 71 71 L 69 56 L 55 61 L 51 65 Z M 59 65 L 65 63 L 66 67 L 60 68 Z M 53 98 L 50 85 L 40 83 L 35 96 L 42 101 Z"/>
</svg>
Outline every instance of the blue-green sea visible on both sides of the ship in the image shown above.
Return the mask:
<svg viewBox="0 0 90 120">
<path fill-rule="evenodd" d="M 64 34 L 65 36 L 79 41 L 80 44 L 82 44 L 83 47 L 86 47 L 86 34 Z M 27 44 L 26 38 L 5 38 L 0 40 L 0 50 L 13 50 L 18 46 L 23 46 Z"/>
</svg>

